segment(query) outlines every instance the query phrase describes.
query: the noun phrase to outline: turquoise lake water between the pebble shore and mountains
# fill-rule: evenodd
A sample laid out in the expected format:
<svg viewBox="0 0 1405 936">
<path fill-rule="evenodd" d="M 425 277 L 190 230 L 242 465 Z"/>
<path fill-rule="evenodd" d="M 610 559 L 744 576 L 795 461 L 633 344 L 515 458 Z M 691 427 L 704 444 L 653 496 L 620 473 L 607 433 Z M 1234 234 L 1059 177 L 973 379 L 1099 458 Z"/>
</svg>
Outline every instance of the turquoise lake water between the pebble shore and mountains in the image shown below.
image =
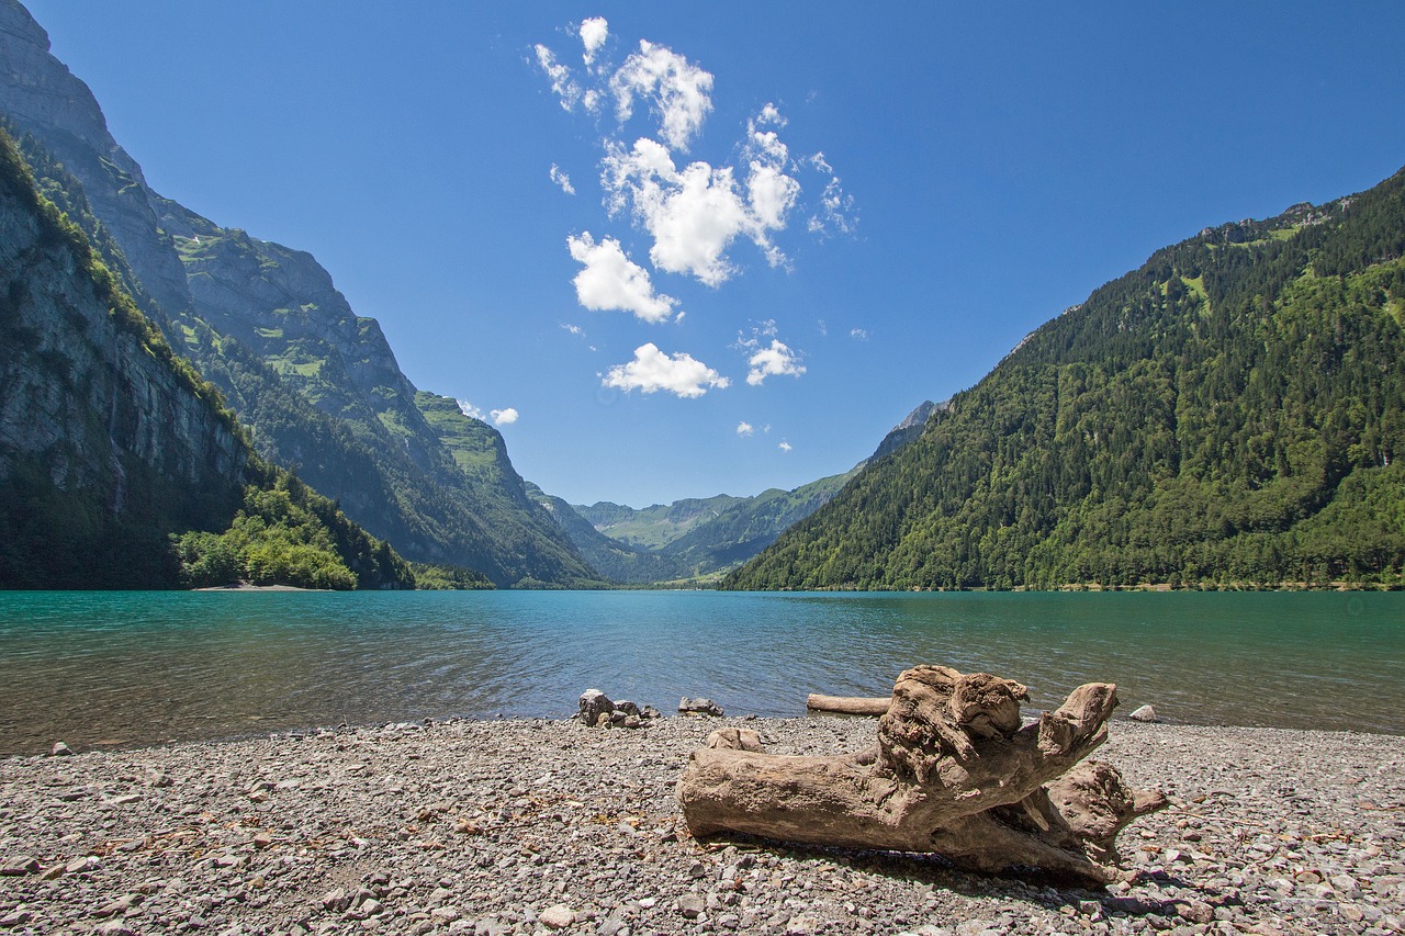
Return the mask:
<svg viewBox="0 0 1405 936">
<path fill-rule="evenodd" d="M 802 715 L 915 663 L 1051 708 L 1405 734 L 1405 593 L 0 592 L 0 753 L 450 718 Z"/>
</svg>

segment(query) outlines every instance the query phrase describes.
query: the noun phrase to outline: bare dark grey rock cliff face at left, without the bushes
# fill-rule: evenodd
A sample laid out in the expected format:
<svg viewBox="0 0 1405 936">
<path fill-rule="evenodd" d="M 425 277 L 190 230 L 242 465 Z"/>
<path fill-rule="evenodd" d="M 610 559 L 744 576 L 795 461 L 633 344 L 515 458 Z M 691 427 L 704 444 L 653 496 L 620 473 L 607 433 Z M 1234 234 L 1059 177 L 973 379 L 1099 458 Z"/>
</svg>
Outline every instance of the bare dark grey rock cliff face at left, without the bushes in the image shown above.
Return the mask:
<svg viewBox="0 0 1405 936">
<path fill-rule="evenodd" d="M 237 507 L 237 431 L 0 138 L 0 583 L 162 580 Z"/>
</svg>

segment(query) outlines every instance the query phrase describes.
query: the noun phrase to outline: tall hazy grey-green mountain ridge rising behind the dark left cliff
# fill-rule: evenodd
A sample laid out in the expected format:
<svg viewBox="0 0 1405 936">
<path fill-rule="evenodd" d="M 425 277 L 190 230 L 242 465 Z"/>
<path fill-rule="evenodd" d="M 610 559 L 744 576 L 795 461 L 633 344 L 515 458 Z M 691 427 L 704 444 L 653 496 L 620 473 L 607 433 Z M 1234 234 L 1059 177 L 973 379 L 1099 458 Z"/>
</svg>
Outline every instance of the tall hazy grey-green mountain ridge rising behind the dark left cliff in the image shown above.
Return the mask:
<svg viewBox="0 0 1405 936">
<path fill-rule="evenodd" d="M 354 313 L 311 254 L 152 191 L 15 0 L 0 0 L 0 114 L 45 193 L 90 205 L 65 211 L 138 308 L 223 392 L 264 458 L 295 468 L 410 559 L 478 569 L 500 586 L 599 580 L 510 465 L 461 468 L 379 325 Z M 500 446 L 492 427 L 475 431 Z"/>
</svg>

